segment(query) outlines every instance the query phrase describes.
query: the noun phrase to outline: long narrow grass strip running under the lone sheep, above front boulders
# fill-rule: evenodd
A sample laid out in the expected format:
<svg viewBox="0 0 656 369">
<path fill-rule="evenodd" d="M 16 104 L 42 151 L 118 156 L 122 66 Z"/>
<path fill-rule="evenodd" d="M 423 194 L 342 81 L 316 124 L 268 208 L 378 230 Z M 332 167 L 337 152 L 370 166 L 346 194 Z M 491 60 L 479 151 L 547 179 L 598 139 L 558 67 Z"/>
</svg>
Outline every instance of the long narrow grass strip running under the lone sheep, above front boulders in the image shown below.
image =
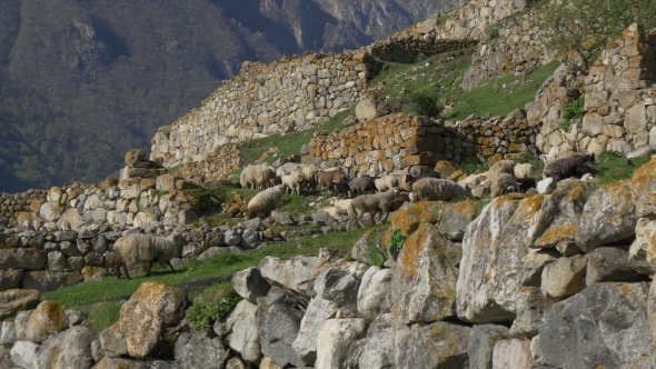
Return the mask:
<svg viewBox="0 0 656 369">
<path fill-rule="evenodd" d="M 382 229 L 387 227 L 375 226 Z M 150 277 L 145 273 L 132 275 L 132 280 L 107 277 L 100 281 L 86 281 L 80 285 L 62 288 L 52 292 L 41 293 L 42 299 L 54 300 L 63 306 L 79 306 L 91 301 L 102 301 L 113 297 L 135 292 L 146 281 L 158 281 L 168 285 L 181 285 L 196 280 L 230 275 L 250 267 L 257 267 L 265 257 L 274 256 L 282 259 L 296 256 L 316 256 L 320 248 L 328 248 L 334 255 L 345 256 L 367 229 L 350 232 L 316 235 L 290 240 L 285 243 L 261 247 L 239 255 L 219 253 L 215 258 L 198 261 L 191 260 L 179 267 L 177 272 L 170 270 L 155 271 Z"/>
</svg>

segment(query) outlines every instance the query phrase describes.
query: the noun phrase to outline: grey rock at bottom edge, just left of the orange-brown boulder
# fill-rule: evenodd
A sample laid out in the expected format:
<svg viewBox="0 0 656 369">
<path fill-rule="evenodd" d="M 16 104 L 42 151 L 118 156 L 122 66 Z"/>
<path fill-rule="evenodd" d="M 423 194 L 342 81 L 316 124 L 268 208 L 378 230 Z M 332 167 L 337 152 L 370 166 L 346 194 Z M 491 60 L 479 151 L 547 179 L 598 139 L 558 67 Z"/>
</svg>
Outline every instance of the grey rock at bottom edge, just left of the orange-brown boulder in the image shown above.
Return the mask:
<svg viewBox="0 0 656 369">
<path fill-rule="evenodd" d="M 39 368 L 88 369 L 93 366 L 93 335 L 78 326 L 47 339 L 39 350 Z"/>
</svg>

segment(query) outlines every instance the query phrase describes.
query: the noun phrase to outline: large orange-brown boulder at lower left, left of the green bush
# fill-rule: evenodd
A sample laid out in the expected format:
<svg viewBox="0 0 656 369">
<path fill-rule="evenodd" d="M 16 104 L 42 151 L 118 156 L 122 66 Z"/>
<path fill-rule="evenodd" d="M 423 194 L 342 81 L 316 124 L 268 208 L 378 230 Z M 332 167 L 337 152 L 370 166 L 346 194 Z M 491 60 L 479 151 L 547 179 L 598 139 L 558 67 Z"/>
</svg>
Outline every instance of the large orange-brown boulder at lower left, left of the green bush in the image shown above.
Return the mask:
<svg viewBox="0 0 656 369">
<path fill-rule="evenodd" d="M 119 331 L 133 358 L 168 357 L 176 343 L 176 326 L 185 317 L 187 289 L 143 282 L 121 307 Z"/>
</svg>

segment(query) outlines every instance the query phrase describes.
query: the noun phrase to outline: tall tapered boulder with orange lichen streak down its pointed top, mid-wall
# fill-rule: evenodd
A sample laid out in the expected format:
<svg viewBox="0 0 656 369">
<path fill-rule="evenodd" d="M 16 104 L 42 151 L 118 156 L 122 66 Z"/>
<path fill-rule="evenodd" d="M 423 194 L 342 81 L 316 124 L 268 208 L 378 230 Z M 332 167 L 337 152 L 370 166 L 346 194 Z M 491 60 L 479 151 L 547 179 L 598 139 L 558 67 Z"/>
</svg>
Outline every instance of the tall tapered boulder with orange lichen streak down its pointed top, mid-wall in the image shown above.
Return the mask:
<svg viewBox="0 0 656 369">
<path fill-rule="evenodd" d="M 392 313 L 404 323 L 455 316 L 457 273 L 445 255 L 446 239 L 423 223 L 406 239 L 394 266 Z"/>
</svg>

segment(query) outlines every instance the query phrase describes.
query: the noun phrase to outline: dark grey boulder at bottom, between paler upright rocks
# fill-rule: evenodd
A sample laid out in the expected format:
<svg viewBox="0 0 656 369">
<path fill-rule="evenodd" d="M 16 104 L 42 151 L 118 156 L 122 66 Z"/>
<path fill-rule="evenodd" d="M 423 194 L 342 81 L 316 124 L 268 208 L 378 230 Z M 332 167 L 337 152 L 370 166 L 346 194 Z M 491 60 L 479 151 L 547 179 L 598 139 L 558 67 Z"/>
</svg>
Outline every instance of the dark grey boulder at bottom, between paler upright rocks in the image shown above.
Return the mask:
<svg viewBox="0 0 656 369">
<path fill-rule="evenodd" d="M 280 367 L 288 363 L 304 367 L 305 363 L 291 348 L 300 330 L 302 312 L 281 303 L 268 305 L 258 299 L 257 327 L 264 356 L 276 361 Z"/>
</svg>

